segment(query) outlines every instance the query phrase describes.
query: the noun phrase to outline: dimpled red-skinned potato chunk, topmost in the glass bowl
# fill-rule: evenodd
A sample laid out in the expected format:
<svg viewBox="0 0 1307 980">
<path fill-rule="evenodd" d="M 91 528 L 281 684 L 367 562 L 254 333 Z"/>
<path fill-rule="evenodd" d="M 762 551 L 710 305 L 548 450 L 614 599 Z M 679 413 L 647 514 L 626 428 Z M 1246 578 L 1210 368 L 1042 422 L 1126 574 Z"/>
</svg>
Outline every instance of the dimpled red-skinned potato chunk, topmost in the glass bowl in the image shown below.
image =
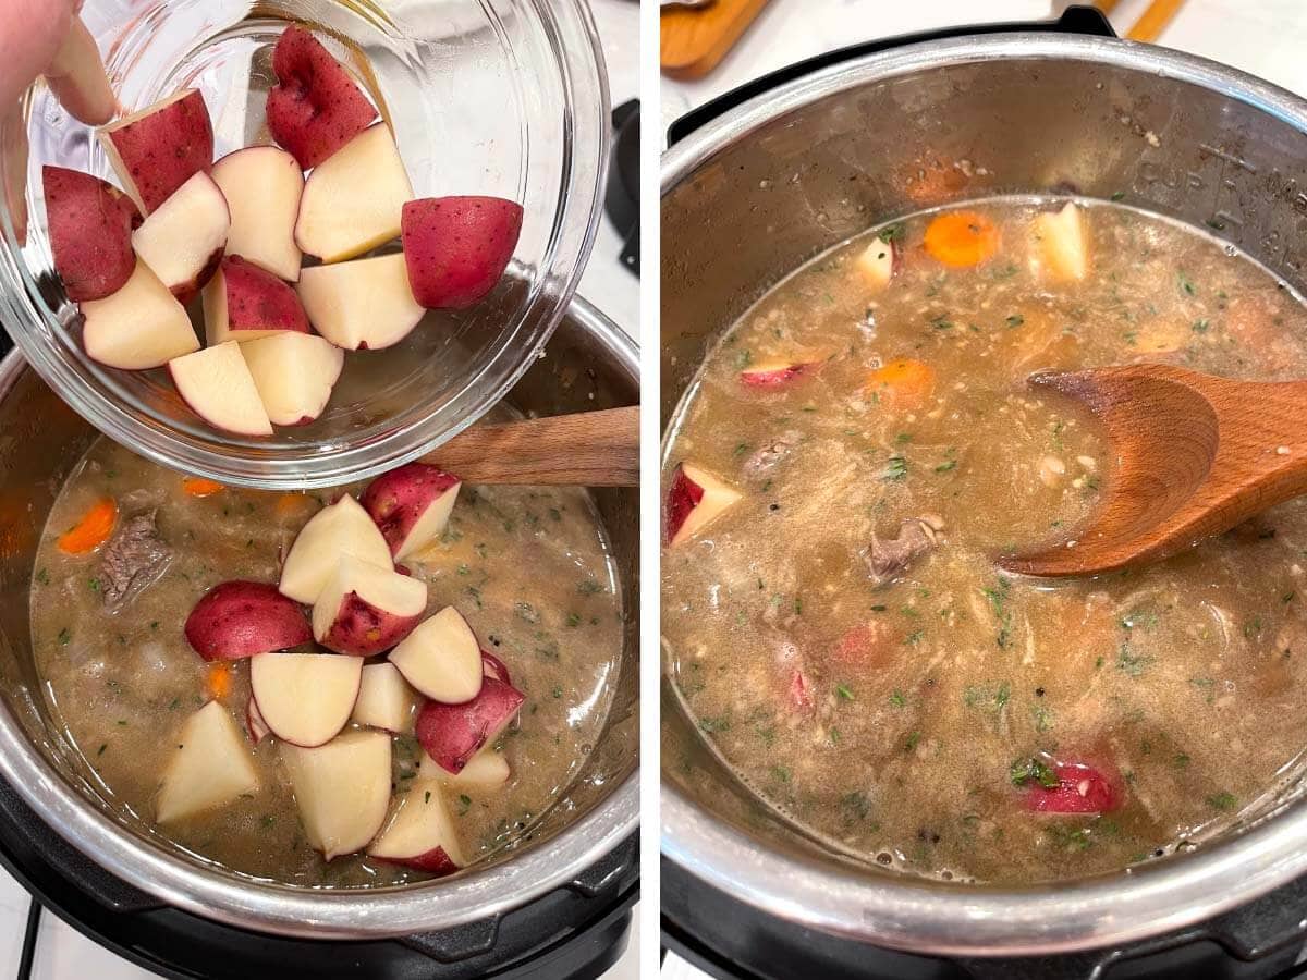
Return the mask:
<svg viewBox="0 0 1307 980">
<path fill-rule="evenodd" d="M 376 108 L 312 34 L 290 26 L 272 51 L 268 129 L 308 170 L 366 129 Z"/>
</svg>

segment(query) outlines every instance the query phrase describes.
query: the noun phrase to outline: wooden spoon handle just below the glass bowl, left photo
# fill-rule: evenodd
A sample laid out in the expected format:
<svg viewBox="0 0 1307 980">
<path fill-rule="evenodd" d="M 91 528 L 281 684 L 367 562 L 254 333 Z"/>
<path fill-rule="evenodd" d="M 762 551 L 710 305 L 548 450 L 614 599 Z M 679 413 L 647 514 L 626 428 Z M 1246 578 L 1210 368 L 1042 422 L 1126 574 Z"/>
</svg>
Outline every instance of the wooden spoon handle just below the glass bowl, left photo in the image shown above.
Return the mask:
<svg viewBox="0 0 1307 980">
<path fill-rule="evenodd" d="M 638 406 L 478 425 L 422 461 L 469 483 L 639 486 Z"/>
</svg>

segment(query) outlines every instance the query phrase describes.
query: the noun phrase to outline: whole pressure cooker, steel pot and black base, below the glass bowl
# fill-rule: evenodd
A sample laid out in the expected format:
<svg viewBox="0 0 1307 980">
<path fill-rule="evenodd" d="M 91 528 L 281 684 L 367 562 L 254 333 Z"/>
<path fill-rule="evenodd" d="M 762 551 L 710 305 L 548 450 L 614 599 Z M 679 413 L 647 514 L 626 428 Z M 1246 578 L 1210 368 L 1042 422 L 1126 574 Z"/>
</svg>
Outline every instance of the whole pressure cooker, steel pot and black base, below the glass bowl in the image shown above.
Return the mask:
<svg viewBox="0 0 1307 980">
<path fill-rule="evenodd" d="M 538 414 L 639 400 L 635 345 L 576 299 L 508 401 Z M 316 891 L 201 865 L 115 814 L 50 724 L 27 587 L 50 506 L 95 431 L 12 351 L 0 362 L 0 864 L 94 941 L 175 977 L 593 977 L 639 891 L 638 493 L 595 490 L 626 615 L 613 706 L 521 847 L 418 885 Z"/>
</svg>

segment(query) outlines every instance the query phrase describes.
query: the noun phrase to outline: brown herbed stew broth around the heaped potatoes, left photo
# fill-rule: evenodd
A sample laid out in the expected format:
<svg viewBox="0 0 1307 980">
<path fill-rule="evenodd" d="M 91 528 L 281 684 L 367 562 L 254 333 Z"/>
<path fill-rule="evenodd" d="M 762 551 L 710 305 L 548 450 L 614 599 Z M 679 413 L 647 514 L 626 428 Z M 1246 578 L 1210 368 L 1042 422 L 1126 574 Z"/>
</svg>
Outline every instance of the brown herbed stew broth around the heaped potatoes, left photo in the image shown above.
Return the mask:
<svg viewBox="0 0 1307 980">
<path fill-rule="evenodd" d="M 153 797 L 183 720 L 217 696 L 244 732 L 248 661 L 214 690 L 182 627 L 195 602 L 229 579 L 277 581 L 280 555 L 337 491 L 183 490 L 176 473 L 97 440 L 51 511 L 31 585 L 37 669 L 51 712 L 102 796 L 153 825 Z M 201 491 L 204 489 L 201 487 Z M 112 498 L 118 532 L 156 517 L 163 554 L 116 595 L 105 547 L 65 554 L 60 534 Z M 443 537 L 405 566 L 427 583 L 429 613 L 452 605 L 525 694 L 501 736 L 511 776 L 494 791 L 451 788 L 448 805 L 471 860 L 529 840 L 599 736 L 621 651 L 616 570 L 584 491 L 464 486 Z M 378 659 L 379 660 L 379 659 Z M 301 886 L 389 885 L 426 877 L 362 855 L 331 862 L 308 847 L 276 738 L 252 747 L 260 788 L 227 806 L 156 827 L 192 855 L 234 872 Z M 393 783 L 414 779 L 422 749 L 393 741 Z"/>
</svg>

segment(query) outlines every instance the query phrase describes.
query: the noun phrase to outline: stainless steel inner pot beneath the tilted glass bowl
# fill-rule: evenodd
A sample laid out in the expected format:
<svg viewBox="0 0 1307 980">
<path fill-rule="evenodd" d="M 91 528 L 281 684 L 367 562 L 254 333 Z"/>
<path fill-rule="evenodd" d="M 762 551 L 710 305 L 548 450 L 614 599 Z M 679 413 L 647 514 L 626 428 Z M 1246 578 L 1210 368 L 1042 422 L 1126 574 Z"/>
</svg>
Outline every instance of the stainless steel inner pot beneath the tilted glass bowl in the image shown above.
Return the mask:
<svg viewBox="0 0 1307 980">
<path fill-rule="evenodd" d="M 639 400 L 635 345 L 582 299 L 508 396 L 541 416 Z M 529 844 L 442 881 L 315 891 L 256 883 L 200 864 L 108 808 L 50 724 L 31 660 L 27 591 L 41 531 L 95 431 L 17 353 L 0 363 L 0 774 L 73 845 L 141 891 L 246 929 L 311 938 L 404 936 L 520 907 L 575 878 L 639 819 L 637 623 L 639 506 L 634 489 L 595 491 L 618 562 L 626 617 L 613 707 L 586 767 Z"/>
</svg>

